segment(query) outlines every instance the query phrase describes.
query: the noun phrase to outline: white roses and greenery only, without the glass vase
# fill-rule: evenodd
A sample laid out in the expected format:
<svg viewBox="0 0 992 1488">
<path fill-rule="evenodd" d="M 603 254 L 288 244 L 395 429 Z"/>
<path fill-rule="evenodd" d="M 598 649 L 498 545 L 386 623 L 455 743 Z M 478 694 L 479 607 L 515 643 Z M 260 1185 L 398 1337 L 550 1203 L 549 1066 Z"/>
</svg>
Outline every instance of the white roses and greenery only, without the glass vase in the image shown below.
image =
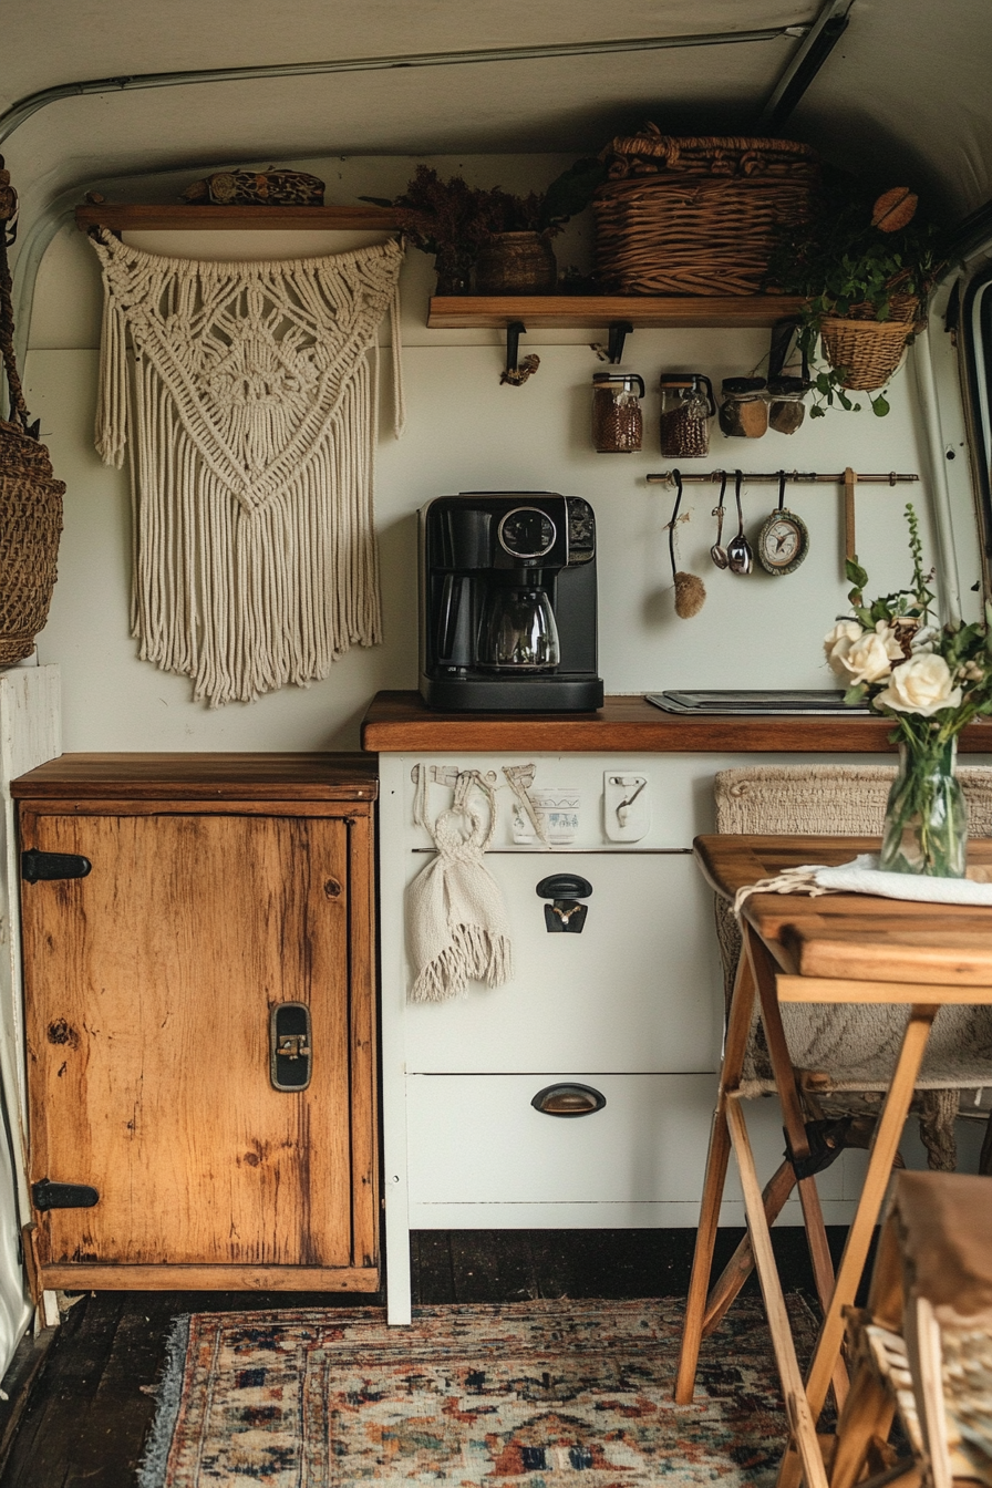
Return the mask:
<svg viewBox="0 0 992 1488">
<path fill-rule="evenodd" d="M 924 573 L 919 522 L 909 504 L 913 582 L 864 603 L 869 576 L 848 561 L 851 616 L 824 637 L 830 668 L 846 683 L 845 702 L 866 698 L 897 723 L 894 738 L 919 745 L 955 738 L 973 719 L 992 714 L 992 606 L 985 623 L 935 625 L 933 577 Z"/>
</svg>

